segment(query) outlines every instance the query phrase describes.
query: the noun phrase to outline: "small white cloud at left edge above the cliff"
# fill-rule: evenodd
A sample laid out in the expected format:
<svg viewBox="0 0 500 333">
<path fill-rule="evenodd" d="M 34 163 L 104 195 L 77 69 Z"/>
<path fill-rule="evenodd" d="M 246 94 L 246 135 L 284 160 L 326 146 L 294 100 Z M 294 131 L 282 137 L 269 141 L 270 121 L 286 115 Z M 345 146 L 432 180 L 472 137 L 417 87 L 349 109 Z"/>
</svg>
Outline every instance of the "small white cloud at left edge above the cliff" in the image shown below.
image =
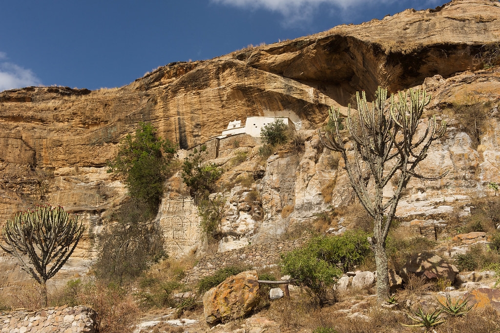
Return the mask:
<svg viewBox="0 0 500 333">
<path fill-rule="evenodd" d="M 0 52 L 0 91 L 41 84 L 31 69 L 5 61 L 6 59 L 7 54 Z"/>
</svg>

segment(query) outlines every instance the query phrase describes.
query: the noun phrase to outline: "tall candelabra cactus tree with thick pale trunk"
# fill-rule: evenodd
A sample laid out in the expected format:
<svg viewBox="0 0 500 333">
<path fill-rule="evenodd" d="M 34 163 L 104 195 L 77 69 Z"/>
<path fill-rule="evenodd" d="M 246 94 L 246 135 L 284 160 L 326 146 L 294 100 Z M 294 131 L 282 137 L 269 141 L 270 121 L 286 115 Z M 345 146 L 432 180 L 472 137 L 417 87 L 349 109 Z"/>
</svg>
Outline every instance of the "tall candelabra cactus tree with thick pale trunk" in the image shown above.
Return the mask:
<svg viewBox="0 0 500 333">
<path fill-rule="evenodd" d="M 445 122 L 438 123 L 432 116 L 426 128 L 417 133 L 424 106 L 430 101 L 425 91 L 399 92 L 397 101 L 393 94 L 388 100 L 386 96 L 387 90 L 378 87 L 375 100 L 368 103 L 364 91 L 361 96 L 356 92 L 358 116 L 349 105 L 345 119 L 348 132 L 340 126 L 343 120 L 340 110 L 333 107 L 329 111 L 333 128 L 319 132 L 326 147 L 341 153 L 352 188 L 373 217 L 371 247 L 375 253 L 379 302 L 384 301 L 389 291 L 385 241 L 401 191 L 411 177 L 431 180 L 443 176 L 423 177 L 416 166 L 427 156 L 432 141 L 446 130 Z M 354 142 L 352 154 L 344 146 L 343 139 L 347 136 Z M 383 188 L 389 181 L 395 188 L 392 196 L 383 200 Z"/>
</svg>

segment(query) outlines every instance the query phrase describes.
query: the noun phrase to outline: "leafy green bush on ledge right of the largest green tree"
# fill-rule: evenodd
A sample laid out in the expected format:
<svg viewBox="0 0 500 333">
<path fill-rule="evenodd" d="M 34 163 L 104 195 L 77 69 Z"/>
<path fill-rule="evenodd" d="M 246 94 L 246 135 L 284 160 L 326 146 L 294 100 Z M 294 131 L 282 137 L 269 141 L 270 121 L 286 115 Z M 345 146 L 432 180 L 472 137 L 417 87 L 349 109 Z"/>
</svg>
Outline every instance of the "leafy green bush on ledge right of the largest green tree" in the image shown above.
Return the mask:
<svg viewBox="0 0 500 333">
<path fill-rule="evenodd" d="M 203 163 L 203 153 L 206 153 L 205 145 L 199 150 L 194 149 L 182 163 L 182 180 L 195 202 L 205 200 L 215 192 L 215 181 L 223 172 L 215 163 Z"/>
</svg>

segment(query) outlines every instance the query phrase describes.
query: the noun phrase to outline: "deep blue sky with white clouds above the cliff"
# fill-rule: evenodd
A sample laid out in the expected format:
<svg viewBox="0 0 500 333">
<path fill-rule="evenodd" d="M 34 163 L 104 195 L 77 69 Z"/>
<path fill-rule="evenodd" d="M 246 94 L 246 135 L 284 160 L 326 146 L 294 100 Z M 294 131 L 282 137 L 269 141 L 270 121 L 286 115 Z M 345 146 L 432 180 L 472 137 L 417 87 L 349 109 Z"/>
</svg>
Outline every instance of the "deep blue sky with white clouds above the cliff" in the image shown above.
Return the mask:
<svg viewBox="0 0 500 333">
<path fill-rule="evenodd" d="M 0 91 L 97 89 L 173 61 L 381 19 L 445 0 L 0 0 Z"/>
</svg>

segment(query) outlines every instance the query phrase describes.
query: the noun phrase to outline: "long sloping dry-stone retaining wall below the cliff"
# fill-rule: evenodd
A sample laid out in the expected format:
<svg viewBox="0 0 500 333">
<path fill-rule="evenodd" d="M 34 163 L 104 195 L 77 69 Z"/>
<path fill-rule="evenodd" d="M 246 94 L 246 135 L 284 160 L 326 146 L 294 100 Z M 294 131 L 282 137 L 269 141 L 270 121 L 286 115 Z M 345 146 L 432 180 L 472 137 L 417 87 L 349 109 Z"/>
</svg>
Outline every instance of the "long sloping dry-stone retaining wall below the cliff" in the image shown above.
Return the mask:
<svg viewBox="0 0 500 333">
<path fill-rule="evenodd" d="M 262 267 L 277 263 L 281 253 L 301 247 L 310 235 L 297 239 L 280 240 L 272 243 L 249 245 L 230 251 L 205 255 L 186 273 L 184 283 L 196 282 L 200 278 L 212 275 L 216 270 L 234 265 Z"/>
</svg>

